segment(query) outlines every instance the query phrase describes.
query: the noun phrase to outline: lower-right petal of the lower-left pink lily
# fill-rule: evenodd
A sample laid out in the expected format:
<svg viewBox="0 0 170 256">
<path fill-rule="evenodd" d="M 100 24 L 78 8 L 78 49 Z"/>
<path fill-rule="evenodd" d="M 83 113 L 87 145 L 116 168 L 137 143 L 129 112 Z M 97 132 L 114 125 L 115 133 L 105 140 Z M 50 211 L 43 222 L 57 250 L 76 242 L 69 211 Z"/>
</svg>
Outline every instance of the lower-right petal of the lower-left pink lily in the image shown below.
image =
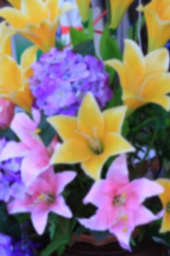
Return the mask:
<svg viewBox="0 0 170 256">
<path fill-rule="evenodd" d="M 54 213 L 66 218 L 72 218 L 73 216 L 71 210 L 66 205 L 64 198 L 61 195 L 57 196 L 56 204 L 51 207 L 50 211 L 53 211 Z"/>
</svg>

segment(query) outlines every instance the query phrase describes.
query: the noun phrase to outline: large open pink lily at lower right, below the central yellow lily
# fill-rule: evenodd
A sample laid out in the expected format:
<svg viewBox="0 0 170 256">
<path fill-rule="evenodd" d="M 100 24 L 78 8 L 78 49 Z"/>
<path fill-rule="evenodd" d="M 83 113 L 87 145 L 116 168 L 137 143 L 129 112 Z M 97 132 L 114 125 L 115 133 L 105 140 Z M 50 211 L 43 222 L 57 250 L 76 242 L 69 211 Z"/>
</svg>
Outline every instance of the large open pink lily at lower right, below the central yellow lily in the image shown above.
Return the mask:
<svg viewBox="0 0 170 256">
<path fill-rule="evenodd" d="M 129 240 L 135 227 L 157 219 L 142 203 L 162 191 L 162 186 L 146 178 L 129 182 L 126 156 L 121 155 L 110 166 L 106 180 L 95 182 L 84 198 L 84 204 L 98 208 L 95 215 L 78 220 L 89 229 L 108 229 L 121 247 L 131 250 Z"/>
</svg>

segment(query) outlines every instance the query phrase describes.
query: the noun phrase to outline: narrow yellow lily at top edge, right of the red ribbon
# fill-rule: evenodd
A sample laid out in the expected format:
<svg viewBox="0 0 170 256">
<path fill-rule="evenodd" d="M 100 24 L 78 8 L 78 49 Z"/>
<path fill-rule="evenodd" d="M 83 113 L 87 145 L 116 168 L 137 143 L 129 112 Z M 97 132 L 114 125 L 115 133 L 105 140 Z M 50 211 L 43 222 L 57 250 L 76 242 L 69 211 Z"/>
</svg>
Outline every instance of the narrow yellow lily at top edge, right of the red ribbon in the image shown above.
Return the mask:
<svg viewBox="0 0 170 256">
<path fill-rule="evenodd" d="M 117 29 L 127 9 L 133 0 L 110 0 L 111 22 L 110 28 Z"/>
</svg>

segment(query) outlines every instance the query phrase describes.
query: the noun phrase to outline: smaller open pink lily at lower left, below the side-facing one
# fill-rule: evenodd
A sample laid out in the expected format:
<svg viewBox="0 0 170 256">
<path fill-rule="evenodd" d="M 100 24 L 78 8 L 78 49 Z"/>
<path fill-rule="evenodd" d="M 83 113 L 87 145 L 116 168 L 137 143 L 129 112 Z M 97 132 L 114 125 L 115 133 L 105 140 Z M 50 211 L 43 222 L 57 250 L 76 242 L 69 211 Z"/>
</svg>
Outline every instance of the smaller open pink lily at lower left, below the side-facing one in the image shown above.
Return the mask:
<svg viewBox="0 0 170 256">
<path fill-rule="evenodd" d="M 15 199 L 9 203 L 9 213 L 30 212 L 35 230 L 39 235 L 42 235 L 48 221 L 49 212 L 65 218 L 72 217 L 71 210 L 66 205 L 61 193 L 75 176 L 76 173 L 73 171 L 55 174 L 53 169 L 49 168 L 27 188 L 23 200 Z"/>
</svg>

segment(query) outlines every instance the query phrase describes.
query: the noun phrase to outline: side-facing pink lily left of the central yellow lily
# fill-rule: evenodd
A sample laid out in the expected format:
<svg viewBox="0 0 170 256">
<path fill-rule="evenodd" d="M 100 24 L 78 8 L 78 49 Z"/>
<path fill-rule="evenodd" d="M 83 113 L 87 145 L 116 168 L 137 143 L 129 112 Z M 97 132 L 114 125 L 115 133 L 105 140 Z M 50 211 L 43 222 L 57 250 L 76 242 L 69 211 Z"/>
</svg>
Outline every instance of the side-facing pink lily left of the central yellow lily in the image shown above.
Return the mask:
<svg viewBox="0 0 170 256">
<path fill-rule="evenodd" d="M 11 122 L 11 129 L 21 142 L 10 141 L 0 154 L 0 161 L 13 157 L 23 157 L 21 164 L 22 181 L 29 186 L 50 166 L 50 158 L 57 146 L 57 137 L 48 148 L 43 144 L 37 129 L 40 112 L 32 110 L 33 120 L 24 112 L 17 113 Z"/>
</svg>

